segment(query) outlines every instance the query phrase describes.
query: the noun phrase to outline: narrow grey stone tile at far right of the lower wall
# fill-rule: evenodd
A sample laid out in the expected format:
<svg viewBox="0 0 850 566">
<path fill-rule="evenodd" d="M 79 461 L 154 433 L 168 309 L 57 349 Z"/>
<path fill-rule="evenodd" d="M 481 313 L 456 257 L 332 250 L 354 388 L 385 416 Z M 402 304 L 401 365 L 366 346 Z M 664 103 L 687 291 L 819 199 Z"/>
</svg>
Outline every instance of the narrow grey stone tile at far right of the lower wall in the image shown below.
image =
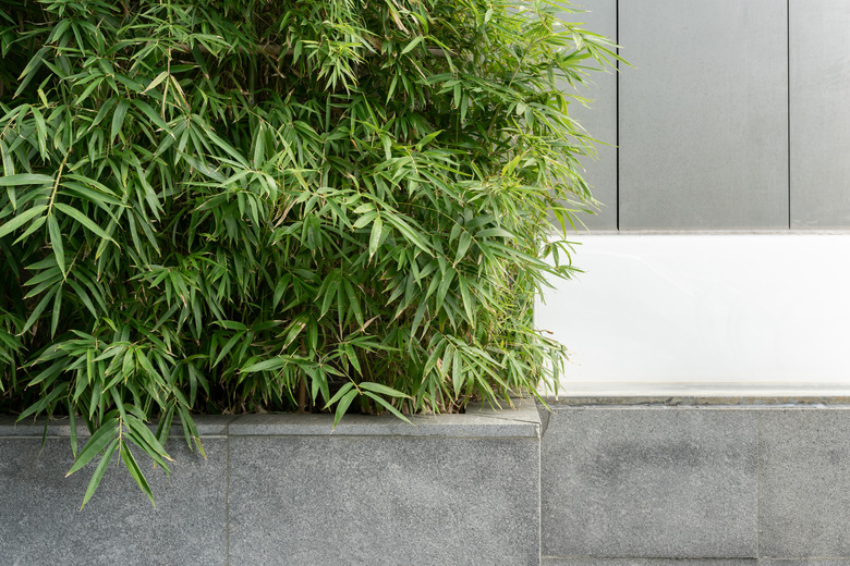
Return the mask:
<svg viewBox="0 0 850 566">
<path fill-rule="evenodd" d="M 850 557 L 850 410 L 760 419 L 760 554 Z"/>
</svg>

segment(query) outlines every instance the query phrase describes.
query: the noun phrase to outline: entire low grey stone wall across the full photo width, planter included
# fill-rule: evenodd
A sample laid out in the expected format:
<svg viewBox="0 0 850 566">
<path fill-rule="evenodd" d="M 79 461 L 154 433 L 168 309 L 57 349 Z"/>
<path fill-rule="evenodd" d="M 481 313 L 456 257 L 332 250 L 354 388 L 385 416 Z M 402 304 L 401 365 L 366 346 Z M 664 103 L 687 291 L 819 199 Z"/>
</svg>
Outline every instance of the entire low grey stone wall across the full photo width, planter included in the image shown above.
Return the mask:
<svg viewBox="0 0 850 566">
<path fill-rule="evenodd" d="M 5 421 L 0 564 L 847 566 L 848 401 L 204 418 L 156 508 L 112 470 L 83 512 L 68 426 Z"/>
</svg>

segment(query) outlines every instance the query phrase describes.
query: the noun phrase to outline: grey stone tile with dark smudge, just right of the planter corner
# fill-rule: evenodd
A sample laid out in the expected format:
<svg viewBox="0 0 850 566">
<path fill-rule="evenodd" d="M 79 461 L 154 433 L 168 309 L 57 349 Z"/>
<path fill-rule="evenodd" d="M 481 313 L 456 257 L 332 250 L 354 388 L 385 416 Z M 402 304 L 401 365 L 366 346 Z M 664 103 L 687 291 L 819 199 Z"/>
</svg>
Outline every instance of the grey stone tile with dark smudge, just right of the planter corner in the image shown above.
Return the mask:
<svg viewBox="0 0 850 566">
<path fill-rule="evenodd" d="M 541 483 L 544 555 L 756 556 L 752 410 L 559 408 Z"/>
</svg>

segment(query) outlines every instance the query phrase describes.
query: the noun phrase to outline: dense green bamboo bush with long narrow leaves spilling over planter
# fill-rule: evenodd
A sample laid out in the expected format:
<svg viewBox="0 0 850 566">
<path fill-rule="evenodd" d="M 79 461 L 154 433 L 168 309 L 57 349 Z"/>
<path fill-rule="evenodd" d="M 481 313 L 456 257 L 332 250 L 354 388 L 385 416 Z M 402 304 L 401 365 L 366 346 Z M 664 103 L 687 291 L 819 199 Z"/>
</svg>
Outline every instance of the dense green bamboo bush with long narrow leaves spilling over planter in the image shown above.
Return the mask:
<svg viewBox="0 0 850 566">
<path fill-rule="evenodd" d="M 73 473 L 174 417 L 457 411 L 551 382 L 533 328 L 616 59 L 546 0 L 7 0 L 0 408 Z M 156 433 L 147 423 L 158 421 Z M 153 499 L 153 497 L 151 497 Z"/>
</svg>

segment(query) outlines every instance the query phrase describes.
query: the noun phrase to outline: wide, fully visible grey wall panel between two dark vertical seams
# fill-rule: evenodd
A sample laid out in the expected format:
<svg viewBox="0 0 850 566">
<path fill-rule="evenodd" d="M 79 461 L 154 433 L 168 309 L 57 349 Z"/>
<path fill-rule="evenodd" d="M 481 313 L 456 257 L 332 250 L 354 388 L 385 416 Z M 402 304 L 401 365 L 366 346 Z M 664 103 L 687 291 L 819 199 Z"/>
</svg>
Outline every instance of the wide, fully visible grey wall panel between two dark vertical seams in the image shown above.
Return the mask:
<svg viewBox="0 0 850 566">
<path fill-rule="evenodd" d="M 786 0 L 629 0 L 619 39 L 620 229 L 788 227 Z"/>
</svg>

